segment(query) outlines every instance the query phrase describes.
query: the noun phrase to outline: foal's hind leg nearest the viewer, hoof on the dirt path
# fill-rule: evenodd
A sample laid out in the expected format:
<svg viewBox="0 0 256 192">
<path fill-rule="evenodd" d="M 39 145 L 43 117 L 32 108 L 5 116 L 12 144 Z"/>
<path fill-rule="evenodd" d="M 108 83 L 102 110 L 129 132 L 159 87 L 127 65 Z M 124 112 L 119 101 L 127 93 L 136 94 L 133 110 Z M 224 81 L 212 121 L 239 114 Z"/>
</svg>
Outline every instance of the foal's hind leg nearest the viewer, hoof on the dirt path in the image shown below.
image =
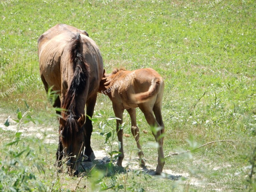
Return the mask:
<svg viewBox="0 0 256 192">
<path fill-rule="evenodd" d="M 158 122 L 156 121 L 155 116 L 153 115 L 152 107 L 148 103 L 142 103 L 138 104 L 140 110 L 144 113 L 144 116 L 148 122 L 148 124 L 154 128 L 154 127 L 160 127 Z M 161 130 L 158 130 L 155 132 L 152 129 L 152 133 L 155 137 L 156 142 L 158 143 L 159 147 L 157 148 L 158 152 L 158 159 L 157 159 L 157 166 L 156 166 L 156 174 L 159 175 L 163 171 L 163 167 L 165 164 L 164 161 L 164 150 L 163 150 L 163 143 L 161 139 Z"/>
</svg>

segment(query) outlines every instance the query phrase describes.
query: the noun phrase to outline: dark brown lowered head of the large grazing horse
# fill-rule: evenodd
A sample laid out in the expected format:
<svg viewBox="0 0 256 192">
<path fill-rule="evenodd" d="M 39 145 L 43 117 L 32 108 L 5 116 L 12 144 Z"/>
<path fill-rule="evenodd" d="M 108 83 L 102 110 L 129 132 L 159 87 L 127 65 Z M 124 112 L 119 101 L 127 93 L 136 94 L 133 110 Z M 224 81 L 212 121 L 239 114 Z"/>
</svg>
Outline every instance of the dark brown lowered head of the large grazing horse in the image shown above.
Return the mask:
<svg viewBox="0 0 256 192">
<path fill-rule="evenodd" d="M 65 116 L 59 119 L 60 123 L 60 140 L 63 145 L 64 155 L 67 158 L 68 173 L 78 175 L 79 163 L 83 158 L 85 130 L 83 124 L 85 116 L 80 117 L 73 115 Z"/>
</svg>

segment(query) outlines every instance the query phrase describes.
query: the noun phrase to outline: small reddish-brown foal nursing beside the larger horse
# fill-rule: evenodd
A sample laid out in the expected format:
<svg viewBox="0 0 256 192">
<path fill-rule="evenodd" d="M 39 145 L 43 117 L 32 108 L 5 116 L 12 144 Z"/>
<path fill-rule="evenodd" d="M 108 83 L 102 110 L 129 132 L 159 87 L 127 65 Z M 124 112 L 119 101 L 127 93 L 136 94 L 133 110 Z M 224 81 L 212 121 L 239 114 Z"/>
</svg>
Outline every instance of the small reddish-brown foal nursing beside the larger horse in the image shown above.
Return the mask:
<svg viewBox="0 0 256 192">
<path fill-rule="evenodd" d="M 122 166 L 124 158 L 123 129 L 119 129 L 119 125 L 123 123 L 123 113 L 124 109 L 126 109 L 132 121 L 131 132 L 139 149 L 140 166 L 145 165 L 143 161 L 144 154 L 139 143 L 139 128 L 136 124 L 136 108 L 139 107 L 148 124 L 152 127 L 152 133 L 158 143 L 156 174 L 160 174 L 165 163 L 163 151 L 164 123 L 161 113 L 164 94 L 164 81 L 162 77 L 151 68 L 134 71 L 115 69 L 111 74 L 105 74 L 104 70 L 99 92 L 108 95 L 112 101 L 115 116 L 121 119 L 116 120 L 117 137 L 121 143 L 119 148 L 121 155 L 118 157 L 116 164 Z"/>
</svg>

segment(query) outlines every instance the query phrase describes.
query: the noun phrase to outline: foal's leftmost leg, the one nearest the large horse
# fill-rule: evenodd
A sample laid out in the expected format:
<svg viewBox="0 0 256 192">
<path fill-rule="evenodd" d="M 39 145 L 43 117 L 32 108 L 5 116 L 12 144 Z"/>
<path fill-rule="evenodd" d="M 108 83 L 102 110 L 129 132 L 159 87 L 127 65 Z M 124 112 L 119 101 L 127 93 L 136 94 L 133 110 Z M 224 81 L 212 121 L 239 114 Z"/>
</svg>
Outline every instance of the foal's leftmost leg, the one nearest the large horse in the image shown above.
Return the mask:
<svg viewBox="0 0 256 192">
<path fill-rule="evenodd" d="M 120 143 L 119 147 L 119 152 L 121 153 L 118 156 L 118 160 L 116 165 L 119 167 L 122 167 L 122 162 L 124 159 L 124 146 L 123 146 L 123 129 L 119 129 L 119 125 L 123 124 L 123 113 L 124 113 L 124 109 L 123 106 L 121 105 L 115 105 L 113 103 L 113 110 L 115 113 L 115 116 L 120 118 L 121 120 L 116 119 L 116 132 L 117 132 L 117 138 L 118 138 L 118 142 Z"/>
</svg>

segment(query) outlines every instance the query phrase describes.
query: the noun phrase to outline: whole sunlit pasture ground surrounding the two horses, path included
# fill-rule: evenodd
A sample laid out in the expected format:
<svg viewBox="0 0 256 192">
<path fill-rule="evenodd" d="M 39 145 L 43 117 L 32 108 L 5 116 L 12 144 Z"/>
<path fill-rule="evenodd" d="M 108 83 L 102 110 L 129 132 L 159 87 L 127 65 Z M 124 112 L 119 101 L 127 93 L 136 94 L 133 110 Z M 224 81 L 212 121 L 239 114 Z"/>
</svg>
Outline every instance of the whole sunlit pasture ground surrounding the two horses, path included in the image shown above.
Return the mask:
<svg viewBox="0 0 256 192">
<path fill-rule="evenodd" d="M 0 0 L 0 190 L 256 191 L 255 10 L 254 0 Z M 124 137 L 128 168 L 107 169 L 103 148 L 118 150 L 117 138 L 105 144 L 96 133 L 95 167 L 83 177 L 54 167 L 58 122 L 39 76 L 37 39 L 58 23 L 88 32 L 107 73 L 153 68 L 164 78 L 168 174 L 129 164 L 137 158 L 132 137 Z M 99 94 L 93 131 L 102 132 L 109 116 L 111 102 Z M 127 112 L 124 122 L 131 135 Z M 147 169 L 155 171 L 157 149 L 140 110 L 137 124 Z M 112 127 L 109 120 L 105 132 Z M 195 149 L 218 140 L 230 141 Z M 185 150 L 192 151 L 168 156 Z"/>
</svg>

